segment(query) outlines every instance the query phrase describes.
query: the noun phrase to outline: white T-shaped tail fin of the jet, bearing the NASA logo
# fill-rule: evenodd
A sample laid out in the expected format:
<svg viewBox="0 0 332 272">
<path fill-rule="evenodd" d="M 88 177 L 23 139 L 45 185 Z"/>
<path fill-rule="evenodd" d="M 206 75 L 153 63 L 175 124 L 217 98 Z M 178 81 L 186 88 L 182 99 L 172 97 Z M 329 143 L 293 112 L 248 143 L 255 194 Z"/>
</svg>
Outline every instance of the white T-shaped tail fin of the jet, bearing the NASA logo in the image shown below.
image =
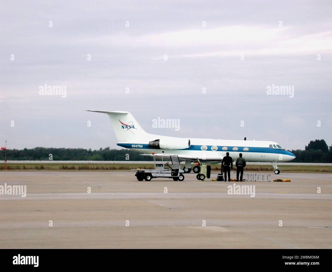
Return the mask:
<svg viewBox="0 0 332 272">
<path fill-rule="evenodd" d="M 139 137 L 147 136 L 142 127 L 138 124 L 135 118 L 130 112 L 123 111 L 96 111 L 96 110 L 87 110 L 88 112 L 99 112 L 105 113 L 110 118 L 112 127 L 115 132 L 115 136 L 118 139 L 118 142 L 123 142 L 127 140 L 132 140 Z"/>
</svg>

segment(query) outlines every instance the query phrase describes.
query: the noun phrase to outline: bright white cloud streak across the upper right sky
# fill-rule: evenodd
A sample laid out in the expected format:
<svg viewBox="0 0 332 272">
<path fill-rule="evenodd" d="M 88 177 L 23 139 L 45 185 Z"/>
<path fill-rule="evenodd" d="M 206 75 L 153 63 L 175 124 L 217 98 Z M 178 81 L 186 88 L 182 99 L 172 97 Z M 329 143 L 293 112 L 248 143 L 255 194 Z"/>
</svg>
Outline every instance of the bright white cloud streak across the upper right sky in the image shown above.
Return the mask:
<svg viewBox="0 0 332 272">
<path fill-rule="evenodd" d="M 143 35 L 112 34 L 80 40 L 83 44 L 99 44 L 132 48 L 135 51 L 163 49 L 176 57 L 289 55 L 331 52 L 332 32 L 301 34 L 290 27 L 226 26 Z M 154 60 L 163 57 L 155 56 Z"/>
</svg>

